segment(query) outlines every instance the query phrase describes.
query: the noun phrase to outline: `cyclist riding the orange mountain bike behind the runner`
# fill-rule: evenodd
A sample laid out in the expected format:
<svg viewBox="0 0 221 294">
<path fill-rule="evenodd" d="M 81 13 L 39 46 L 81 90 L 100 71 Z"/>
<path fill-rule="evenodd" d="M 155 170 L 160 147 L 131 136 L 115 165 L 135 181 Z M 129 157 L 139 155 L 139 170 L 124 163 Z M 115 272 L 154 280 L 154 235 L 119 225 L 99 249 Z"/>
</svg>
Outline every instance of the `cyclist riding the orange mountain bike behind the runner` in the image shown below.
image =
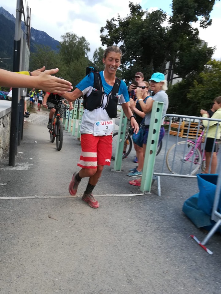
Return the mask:
<svg viewBox="0 0 221 294">
<path fill-rule="evenodd" d="M 51 130 L 52 128 L 52 119 L 55 114 L 55 106 L 59 105 L 60 100 L 62 100 L 62 96 L 58 95 L 57 93 L 50 93 L 46 92 L 44 99 L 43 99 L 43 107 L 45 108 L 51 108 L 49 112 L 49 119 L 48 119 L 48 129 Z M 70 110 L 73 109 L 72 102 L 69 102 L 70 104 Z"/>
</svg>

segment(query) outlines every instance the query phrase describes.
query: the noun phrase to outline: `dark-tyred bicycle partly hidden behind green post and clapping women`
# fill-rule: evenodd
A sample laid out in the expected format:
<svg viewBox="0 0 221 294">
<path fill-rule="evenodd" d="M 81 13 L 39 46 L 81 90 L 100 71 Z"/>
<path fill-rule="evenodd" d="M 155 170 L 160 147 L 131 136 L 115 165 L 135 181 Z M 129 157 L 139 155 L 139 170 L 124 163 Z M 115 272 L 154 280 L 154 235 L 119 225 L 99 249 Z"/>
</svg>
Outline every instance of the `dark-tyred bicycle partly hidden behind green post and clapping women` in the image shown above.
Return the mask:
<svg viewBox="0 0 221 294">
<path fill-rule="evenodd" d="M 123 132 L 121 132 L 121 134 L 123 134 Z M 113 160 L 115 160 L 115 156 L 116 156 L 118 135 L 119 135 L 119 132 L 115 132 L 113 134 L 112 156 L 111 156 L 111 159 L 113 159 Z M 127 126 L 125 137 L 124 137 L 124 148 L 123 148 L 123 153 L 122 153 L 122 159 L 126 158 L 130 154 L 130 151 L 131 151 L 132 145 L 133 145 L 132 139 L 131 139 L 132 135 L 133 135 L 133 133 L 131 133 L 131 126 Z M 160 143 L 157 147 L 157 155 L 160 153 L 161 148 L 162 148 L 162 140 L 160 141 Z"/>
</svg>

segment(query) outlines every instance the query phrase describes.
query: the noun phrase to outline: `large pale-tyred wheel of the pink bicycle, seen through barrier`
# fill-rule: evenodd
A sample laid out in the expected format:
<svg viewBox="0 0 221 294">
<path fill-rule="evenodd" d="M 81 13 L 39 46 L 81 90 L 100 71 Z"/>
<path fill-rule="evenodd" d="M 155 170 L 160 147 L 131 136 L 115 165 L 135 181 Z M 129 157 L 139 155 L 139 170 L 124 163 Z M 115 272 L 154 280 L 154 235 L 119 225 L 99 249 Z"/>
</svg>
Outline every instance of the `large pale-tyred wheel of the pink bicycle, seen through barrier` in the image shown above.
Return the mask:
<svg viewBox="0 0 221 294">
<path fill-rule="evenodd" d="M 166 155 L 169 171 L 177 175 L 195 174 L 202 164 L 202 156 L 198 148 L 194 150 L 194 146 L 195 144 L 186 144 L 185 141 L 174 144 Z"/>
</svg>

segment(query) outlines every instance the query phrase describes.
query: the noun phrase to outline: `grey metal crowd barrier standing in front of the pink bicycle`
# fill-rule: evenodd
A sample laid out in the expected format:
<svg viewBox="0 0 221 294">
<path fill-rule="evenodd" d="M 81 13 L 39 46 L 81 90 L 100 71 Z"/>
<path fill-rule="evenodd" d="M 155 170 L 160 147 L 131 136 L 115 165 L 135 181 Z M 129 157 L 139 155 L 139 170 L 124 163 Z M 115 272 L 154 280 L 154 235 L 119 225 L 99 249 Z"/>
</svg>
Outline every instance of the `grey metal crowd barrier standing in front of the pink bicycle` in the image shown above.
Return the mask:
<svg viewBox="0 0 221 294">
<path fill-rule="evenodd" d="M 178 119 L 178 123 L 176 124 L 176 133 L 174 133 L 173 129 L 174 117 Z M 202 121 L 207 120 L 221 122 L 221 119 L 211 119 L 188 115 L 166 114 L 163 116 L 163 119 L 165 120 L 166 118 L 169 121 L 166 125 L 164 125 L 168 128 L 168 131 L 165 133 L 163 138 L 164 152 L 161 151 L 161 156 L 158 155 L 158 164 L 153 172 L 153 180 L 157 179 L 159 196 L 161 195 L 160 176 L 196 178 L 196 173 L 204 171 L 205 160 L 203 160 L 203 157 L 207 141 L 207 133 L 204 144 L 200 145 L 199 148 L 196 147 L 196 142 L 197 139 L 201 136 L 201 132 L 203 130 L 206 131 L 208 128 L 207 127 L 204 129 L 204 127 L 202 127 Z M 183 121 L 185 122 L 186 129 L 185 138 L 181 137 L 181 134 L 183 134 L 183 132 L 181 132 L 181 128 L 183 128 Z M 194 127 L 192 127 L 193 122 L 195 122 Z M 217 134 L 217 131 L 218 124 L 216 125 L 215 134 Z M 209 164 L 209 171 L 211 170 L 213 152 L 217 151 L 216 148 L 218 145 L 219 144 L 215 143 L 214 141 L 212 156 Z M 159 162 L 159 158 L 161 158 L 161 162 Z M 217 166 L 219 166 L 219 164 Z"/>
</svg>

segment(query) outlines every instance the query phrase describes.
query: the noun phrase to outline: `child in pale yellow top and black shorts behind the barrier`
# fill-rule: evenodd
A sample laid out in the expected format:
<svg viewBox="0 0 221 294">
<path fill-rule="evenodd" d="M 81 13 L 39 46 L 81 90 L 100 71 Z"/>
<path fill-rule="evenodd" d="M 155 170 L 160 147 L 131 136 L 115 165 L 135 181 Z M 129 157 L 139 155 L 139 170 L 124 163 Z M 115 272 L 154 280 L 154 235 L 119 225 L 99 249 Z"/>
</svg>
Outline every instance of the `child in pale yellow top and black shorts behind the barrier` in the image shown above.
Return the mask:
<svg viewBox="0 0 221 294">
<path fill-rule="evenodd" d="M 213 100 L 213 108 L 215 110 L 214 114 L 211 116 L 211 119 L 221 119 L 221 96 L 216 97 Z M 203 117 L 209 117 L 209 114 L 206 110 L 201 109 L 200 114 Z M 217 130 L 217 124 L 218 124 L 218 130 Z M 208 120 L 203 120 L 203 125 L 205 127 L 208 127 L 204 133 L 204 136 L 207 137 L 206 140 L 206 146 L 205 146 L 205 154 L 206 154 L 206 169 L 203 172 L 204 174 L 208 174 L 209 172 L 209 165 L 210 165 L 210 160 L 212 157 L 212 162 L 211 162 L 211 174 L 215 174 L 216 172 L 216 167 L 217 167 L 217 156 L 216 152 L 213 152 L 212 154 L 212 149 L 213 149 L 213 144 L 214 140 L 220 138 L 221 134 L 221 122 L 216 122 L 216 121 L 208 121 Z"/>
</svg>

